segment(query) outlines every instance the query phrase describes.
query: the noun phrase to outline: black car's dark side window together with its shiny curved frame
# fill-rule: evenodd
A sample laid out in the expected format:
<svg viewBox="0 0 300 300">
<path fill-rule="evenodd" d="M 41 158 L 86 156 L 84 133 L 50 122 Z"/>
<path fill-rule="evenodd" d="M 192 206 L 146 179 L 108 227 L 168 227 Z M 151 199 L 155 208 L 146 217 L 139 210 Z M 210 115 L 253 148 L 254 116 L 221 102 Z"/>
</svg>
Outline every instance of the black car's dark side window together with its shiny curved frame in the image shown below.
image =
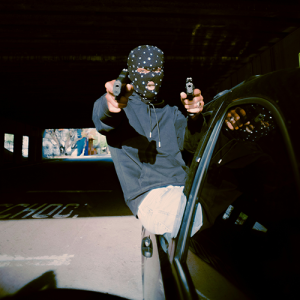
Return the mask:
<svg viewBox="0 0 300 300">
<path fill-rule="evenodd" d="M 195 153 L 174 250 L 181 298 L 291 299 L 299 284 L 300 184 L 284 116 L 260 97 L 212 106 L 218 109 Z M 228 130 L 227 113 L 237 108 L 248 114 L 251 132 Z M 203 226 L 190 238 L 197 202 Z"/>
</svg>

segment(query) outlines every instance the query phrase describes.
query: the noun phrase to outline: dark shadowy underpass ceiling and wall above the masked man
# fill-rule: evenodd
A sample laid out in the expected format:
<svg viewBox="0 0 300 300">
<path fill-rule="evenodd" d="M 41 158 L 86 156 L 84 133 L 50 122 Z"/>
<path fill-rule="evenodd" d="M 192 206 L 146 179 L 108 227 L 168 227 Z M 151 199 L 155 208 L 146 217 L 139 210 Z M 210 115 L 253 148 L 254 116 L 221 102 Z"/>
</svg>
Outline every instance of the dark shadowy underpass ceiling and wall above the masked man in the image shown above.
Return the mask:
<svg viewBox="0 0 300 300">
<path fill-rule="evenodd" d="M 1 1 L 0 117 L 41 129 L 93 127 L 105 82 L 142 44 L 165 53 L 168 103 L 183 109 L 189 76 L 207 102 L 299 27 L 300 3 L 288 0 Z"/>
</svg>

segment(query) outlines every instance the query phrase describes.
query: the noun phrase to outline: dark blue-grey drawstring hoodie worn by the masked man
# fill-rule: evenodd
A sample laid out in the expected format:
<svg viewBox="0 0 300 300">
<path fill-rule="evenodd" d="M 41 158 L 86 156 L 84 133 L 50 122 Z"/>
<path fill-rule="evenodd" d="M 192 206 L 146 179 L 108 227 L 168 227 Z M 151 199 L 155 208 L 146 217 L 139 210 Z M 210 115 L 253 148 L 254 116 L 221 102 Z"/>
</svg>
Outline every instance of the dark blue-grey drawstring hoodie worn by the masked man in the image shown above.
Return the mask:
<svg viewBox="0 0 300 300">
<path fill-rule="evenodd" d="M 188 168 L 181 151 L 186 143 L 189 148 L 197 145 L 202 117 L 187 122 L 176 106 L 154 107 L 134 92 L 120 113 L 109 112 L 105 95 L 100 97 L 94 104 L 93 121 L 107 137 L 126 204 L 134 215 L 145 192 L 185 184 Z M 187 123 L 196 128 L 193 134 Z"/>
</svg>

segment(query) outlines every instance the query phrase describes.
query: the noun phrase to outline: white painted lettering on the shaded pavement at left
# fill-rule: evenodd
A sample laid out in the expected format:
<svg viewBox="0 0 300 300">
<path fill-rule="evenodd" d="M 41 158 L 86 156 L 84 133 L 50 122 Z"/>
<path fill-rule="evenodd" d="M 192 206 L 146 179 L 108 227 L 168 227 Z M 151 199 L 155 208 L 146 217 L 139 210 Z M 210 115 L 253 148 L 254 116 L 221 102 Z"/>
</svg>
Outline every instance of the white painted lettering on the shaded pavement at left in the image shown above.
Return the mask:
<svg viewBox="0 0 300 300">
<path fill-rule="evenodd" d="M 78 203 L 69 203 L 69 204 L 61 204 L 61 203 L 43 203 L 43 204 L 28 204 L 28 203 L 20 203 L 20 204 L 0 204 L 0 207 L 4 207 L 5 209 L 0 211 L 0 219 L 64 219 L 64 218 L 77 218 L 78 214 L 76 210 L 80 207 Z"/>
</svg>

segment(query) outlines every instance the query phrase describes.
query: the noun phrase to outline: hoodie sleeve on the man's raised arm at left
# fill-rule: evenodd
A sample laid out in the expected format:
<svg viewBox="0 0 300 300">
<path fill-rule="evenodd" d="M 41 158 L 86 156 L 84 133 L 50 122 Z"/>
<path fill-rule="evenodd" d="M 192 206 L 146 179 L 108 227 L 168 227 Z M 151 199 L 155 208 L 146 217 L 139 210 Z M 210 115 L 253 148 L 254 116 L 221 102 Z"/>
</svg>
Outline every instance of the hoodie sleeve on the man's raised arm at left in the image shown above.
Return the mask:
<svg viewBox="0 0 300 300">
<path fill-rule="evenodd" d="M 117 128 L 123 120 L 125 113 L 112 113 L 108 110 L 107 101 L 104 94 L 95 103 L 93 108 L 93 122 L 96 129 L 103 135 L 108 134 Z"/>
</svg>

